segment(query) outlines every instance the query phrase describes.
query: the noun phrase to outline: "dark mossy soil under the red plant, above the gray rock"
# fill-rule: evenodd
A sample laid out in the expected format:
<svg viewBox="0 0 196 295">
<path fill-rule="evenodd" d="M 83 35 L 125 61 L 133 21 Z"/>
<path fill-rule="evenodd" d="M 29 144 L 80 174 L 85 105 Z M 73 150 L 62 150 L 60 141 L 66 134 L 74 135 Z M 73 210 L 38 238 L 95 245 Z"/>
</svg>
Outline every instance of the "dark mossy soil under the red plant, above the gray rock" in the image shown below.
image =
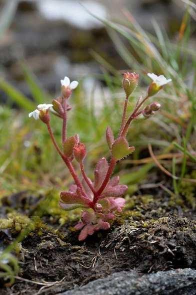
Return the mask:
<svg viewBox="0 0 196 295">
<path fill-rule="evenodd" d="M 121 270 L 196 268 L 195 213 L 182 197 L 172 200 L 160 188 L 140 190 L 110 231 L 85 242 L 78 242 L 75 222 L 54 230 L 57 219 L 51 224 L 50 216 L 43 216 L 51 228 L 40 226 L 22 241 L 19 278 L 0 293 L 55 294 Z M 13 229 L 10 233 L 14 237 Z"/>
</svg>

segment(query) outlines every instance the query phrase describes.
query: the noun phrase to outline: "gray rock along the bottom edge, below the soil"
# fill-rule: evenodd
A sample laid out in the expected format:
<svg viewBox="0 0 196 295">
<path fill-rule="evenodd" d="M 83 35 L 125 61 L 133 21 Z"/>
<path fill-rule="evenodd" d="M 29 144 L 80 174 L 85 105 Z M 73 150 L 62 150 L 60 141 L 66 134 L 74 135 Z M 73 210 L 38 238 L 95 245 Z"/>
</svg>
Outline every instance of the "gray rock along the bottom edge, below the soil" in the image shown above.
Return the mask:
<svg viewBox="0 0 196 295">
<path fill-rule="evenodd" d="M 141 274 L 135 271 L 115 272 L 61 295 L 194 295 L 196 270 L 190 268 Z"/>
</svg>

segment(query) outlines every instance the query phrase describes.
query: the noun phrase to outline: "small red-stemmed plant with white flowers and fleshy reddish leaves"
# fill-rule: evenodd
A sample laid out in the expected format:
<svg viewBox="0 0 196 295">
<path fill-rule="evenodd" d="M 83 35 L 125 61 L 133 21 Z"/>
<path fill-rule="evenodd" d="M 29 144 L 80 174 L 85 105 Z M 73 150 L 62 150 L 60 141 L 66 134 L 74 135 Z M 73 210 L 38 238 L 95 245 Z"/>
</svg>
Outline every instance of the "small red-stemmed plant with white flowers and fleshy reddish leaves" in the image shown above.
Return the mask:
<svg viewBox="0 0 196 295">
<path fill-rule="evenodd" d="M 124 109 L 122 112 L 119 133 L 114 138 L 110 126 L 106 128 L 105 136 L 111 160 L 108 163 L 106 158 L 101 158 L 94 168 L 94 178 L 89 179 L 84 170 L 84 159 L 86 157 L 85 144 L 80 142 L 77 134 L 67 137 L 67 112 L 71 109 L 68 101 L 73 89 L 78 85 L 77 81 L 70 83 L 68 77 L 61 80 L 61 96 L 52 100 L 52 104 L 39 104 L 37 109 L 28 114 L 35 120 L 38 118 L 46 124 L 51 141 L 67 166 L 74 184 L 71 184 L 68 191 L 60 193 L 59 205 L 64 210 L 83 208 L 81 220 L 75 225 L 75 229 L 81 230 L 78 239 L 84 240 L 100 229 L 109 229 L 110 221 L 115 218 L 116 212 L 120 213 L 124 207 L 123 195 L 127 186 L 119 184 L 119 177 L 111 177 L 113 169 L 118 161 L 127 157 L 134 151 L 134 146 L 129 146 L 126 133 L 130 123 L 139 115 L 150 117 L 159 110 L 160 104 L 152 102 L 143 107 L 147 99 L 156 94 L 163 85 L 171 81 L 164 76 L 147 74 L 152 79 L 145 98 L 140 97 L 132 111 L 127 116 L 127 103 L 130 94 L 138 84 L 139 75 L 125 72 L 122 79 L 122 87 L 125 92 Z M 50 126 L 50 111 L 62 120 L 62 147 L 60 148 L 54 138 Z M 75 172 L 73 162 L 80 167 L 81 177 Z M 75 165 L 75 164 L 74 164 Z"/>
</svg>

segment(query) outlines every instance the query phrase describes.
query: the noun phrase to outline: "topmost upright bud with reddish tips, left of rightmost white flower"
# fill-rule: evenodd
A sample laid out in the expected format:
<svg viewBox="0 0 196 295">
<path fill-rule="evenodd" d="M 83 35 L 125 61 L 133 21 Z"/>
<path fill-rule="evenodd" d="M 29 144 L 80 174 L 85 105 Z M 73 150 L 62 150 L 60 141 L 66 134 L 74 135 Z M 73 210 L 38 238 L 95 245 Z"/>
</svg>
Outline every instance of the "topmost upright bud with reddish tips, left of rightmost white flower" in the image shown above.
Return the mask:
<svg viewBox="0 0 196 295">
<path fill-rule="evenodd" d="M 124 92 L 128 97 L 134 89 L 137 87 L 139 75 L 136 73 L 125 72 L 123 75 L 122 86 L 124 88 Z"/>
</svg>

